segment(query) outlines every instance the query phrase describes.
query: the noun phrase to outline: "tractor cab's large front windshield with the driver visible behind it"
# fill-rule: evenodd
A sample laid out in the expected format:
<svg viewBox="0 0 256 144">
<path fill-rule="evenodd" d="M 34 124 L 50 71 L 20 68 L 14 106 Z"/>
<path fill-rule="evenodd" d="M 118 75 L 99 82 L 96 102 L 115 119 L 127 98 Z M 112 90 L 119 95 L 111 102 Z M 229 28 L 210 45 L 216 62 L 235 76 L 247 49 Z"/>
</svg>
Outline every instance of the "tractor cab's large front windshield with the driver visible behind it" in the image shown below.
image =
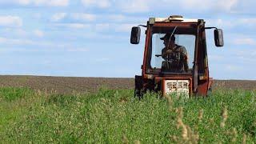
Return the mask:
<svg viewBox="0 0 256 144">
<path fill-rule="evenodd" d="M 148 67 L 151 72 L 191 73 L 195 32 L 184 28 L 153 28 Z"/>
</svg>

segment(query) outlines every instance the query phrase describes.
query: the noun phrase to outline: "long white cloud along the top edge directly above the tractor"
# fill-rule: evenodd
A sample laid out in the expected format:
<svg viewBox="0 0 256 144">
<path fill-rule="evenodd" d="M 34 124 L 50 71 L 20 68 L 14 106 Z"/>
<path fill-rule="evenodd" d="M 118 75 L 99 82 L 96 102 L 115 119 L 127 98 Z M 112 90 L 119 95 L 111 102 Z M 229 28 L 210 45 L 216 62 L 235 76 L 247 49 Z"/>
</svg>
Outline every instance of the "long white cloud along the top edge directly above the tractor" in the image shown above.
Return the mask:
<svg viewBox="0 0 256 144">
<path fill-rule="evenodd" d="M 232 13 L 237 9 L 239 0 L 222 0 L 216 2 L 216 0 L 125 0 L 113 1 L 115 7 L 118 10 L 122 10 L 126 13 L 145 13 L 155 10 L 168 10 L 170 13 L 178 10 L 182 10 L 182 13 L 191 12 L 201 13 L 208 12 L 216 13 Z"/>
</svg>

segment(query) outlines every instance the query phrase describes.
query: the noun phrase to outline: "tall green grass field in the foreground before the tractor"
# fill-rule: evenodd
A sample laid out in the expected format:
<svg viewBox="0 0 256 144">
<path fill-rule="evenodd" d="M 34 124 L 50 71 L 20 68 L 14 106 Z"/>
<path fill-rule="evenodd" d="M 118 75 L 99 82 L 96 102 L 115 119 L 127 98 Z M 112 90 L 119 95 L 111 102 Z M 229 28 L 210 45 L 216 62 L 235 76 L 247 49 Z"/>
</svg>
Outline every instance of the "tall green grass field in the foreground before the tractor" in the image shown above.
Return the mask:
<svg viewBox="0 0 256 144">
<path fill-rule="evenodd" d="M 2 143 L 255 143 L 256 91 L 138 101 L 133 90 L 47 94 L 0 88 Z"/>
</svg>

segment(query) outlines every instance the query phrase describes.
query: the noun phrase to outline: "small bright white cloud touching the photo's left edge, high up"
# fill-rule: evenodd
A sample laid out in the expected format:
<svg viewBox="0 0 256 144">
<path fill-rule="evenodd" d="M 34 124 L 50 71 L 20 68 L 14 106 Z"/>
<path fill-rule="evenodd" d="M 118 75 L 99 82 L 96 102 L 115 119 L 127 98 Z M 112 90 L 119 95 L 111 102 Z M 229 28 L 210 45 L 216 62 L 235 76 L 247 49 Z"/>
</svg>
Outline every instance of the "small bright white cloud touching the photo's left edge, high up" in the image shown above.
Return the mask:
<svg viewBox="0 0 256 144">
<path fill-rule="evenodd" d="M 0 16 L 0 26 L 22 26 L 22 18 L 17 16 Z"/>
</svg>

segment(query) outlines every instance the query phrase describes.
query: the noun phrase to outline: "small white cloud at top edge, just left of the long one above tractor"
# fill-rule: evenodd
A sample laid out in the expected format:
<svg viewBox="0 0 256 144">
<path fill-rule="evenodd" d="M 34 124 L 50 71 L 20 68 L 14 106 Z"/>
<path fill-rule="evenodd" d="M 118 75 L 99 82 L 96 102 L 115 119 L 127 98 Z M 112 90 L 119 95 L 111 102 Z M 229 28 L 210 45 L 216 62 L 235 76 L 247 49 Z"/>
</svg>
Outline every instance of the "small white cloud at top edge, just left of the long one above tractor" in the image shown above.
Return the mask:
<svg viewBox="0 0 256 144">
<path fill-rule="evenodd" d="M 90 6 L 96 6 L 100 8 L 106 8 L 110 7 L 110 1 L 109 0 L 81 0 L 83 6 L 90 7 Z"/>
</svg>

